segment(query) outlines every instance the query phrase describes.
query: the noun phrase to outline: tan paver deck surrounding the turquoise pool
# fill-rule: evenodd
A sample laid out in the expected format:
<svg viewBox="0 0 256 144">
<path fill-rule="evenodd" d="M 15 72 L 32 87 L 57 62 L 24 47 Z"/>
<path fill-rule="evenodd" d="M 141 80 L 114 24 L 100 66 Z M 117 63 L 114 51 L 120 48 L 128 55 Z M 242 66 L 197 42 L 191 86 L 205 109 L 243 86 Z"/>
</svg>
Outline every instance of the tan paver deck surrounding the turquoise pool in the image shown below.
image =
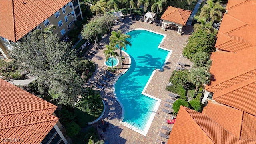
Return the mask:
<svg viewBox="0 0 256 144">
<path fill-rule="evenodd" d="M 112 91 L 113 82 L 116 77 L 110 78 L 110 82 L 108 82 L 109 84 L 106 86 L 105 90 L 96 88 L 100 91 L 100 94 L 102 95 L 102 98 L 106 104 L 106 111 L 102 119 L 109 122 L 109 128 L 107 128 L 107 131 L 102 132 L 101 129 L 98 129 L 98 133 L 102 134 L 105 141 L 109 142 L 110 144 L 155 144 L 158 138 L 167 142 L 166 139 L 158 136 L 160 132 L 164 134 L 166 133 L 166 130 L 161 129 L 163 125 L 168 127 L 173 126 L 172 124 L 166 124 L 165 122 L 165 119 L 170 119 L 171 116 L 162 112 L 162 108 L 166 108 L 164 106 L 164 104 L 167 103 L 166 99 L 170 98 L 170 96 L 168 96 L 169 92 L 166 91 L 165 88 L 168 84 L 170 75 L 178 65 L 178 62 L 186 63 L 189 65 L 192 64 L 189 60 L 182 57 L 182 49 L 186 45 L 188 37 L 193 30 L 192 26 L 184 27 L 182 29 L 182 32 L 184 33 L 181 36 L 177 34 L 177 31 L 164 31 L 161 29 L 160 26 L 156 26 L 154 23 L 149 24 L 140 21 L 131 22 L 128 18 L 125 19 L 124 24 L 118 24 L 114 26 L 114 30 L 121 29 L 122 32 L 126 32 L 135 28 L 145 28 L 148 30 L 166 34 L 166 38 L 162 44 L 162 47 L 172 50 L 172 54 L 168 59 L 164 70 L 162 72 L 156 71 L 152 80 L 150 81 L 150 84 L 148 85 L 148 88 L 146 89 L 147 94 L 150 94 L 156 98 L 160 98 L 162 102 L 160 103 L 160 106 L 148 130 L 147 135 L 143 136 L 142 134 L 134 132 L 133 130 L 119 123 L 122 116 L 122 109 L 120 104 L 114 98 Z M 106 35 L 99 43 L 102 45 L 108 44 L 109 36 L 110 34 Z M 92 57 L 92 61 L 94 61 L 97 65 L 96 72 L 88 80 L 88 83 L 86 83 L 84 86 L 95 86 L 95 82 L 97 82 L 97 77 L 99 78 L 100 76 L 104 75 L 104 70 L 107 69 L 107 67 L 104 65 L 105 56 L 103 54 L 103 50 L 98 49 L 96 51 L 97 54 Z M 126 64 L 128 64 L 127 60 Z M 127 66 L 128 65 L 125 65 L 122 70 L 125 70 Z M 117 76 L 118 74 L 115 75 Z M 97 124 L 95 124 L 94 126 L 97 127 Z"/>
</svg>

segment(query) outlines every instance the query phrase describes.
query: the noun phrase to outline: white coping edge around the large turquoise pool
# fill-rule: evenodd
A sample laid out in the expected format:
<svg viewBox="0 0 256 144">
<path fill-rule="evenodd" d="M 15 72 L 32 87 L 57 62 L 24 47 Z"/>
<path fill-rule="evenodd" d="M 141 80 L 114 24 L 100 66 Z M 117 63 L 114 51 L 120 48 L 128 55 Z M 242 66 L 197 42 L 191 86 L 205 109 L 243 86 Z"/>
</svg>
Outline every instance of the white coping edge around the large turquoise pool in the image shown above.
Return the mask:
<svg viewBox="0 0 256 144">
<path fill-rule="evenodd" d="M 170 58 L 170 56 L 171 56 L 171 54 L 172 54 L 172 50 L 169 50 L 169 49 L 166 49 L 166 48 L 161 47 L 161 44 L 164 42 L 164 40 L 165 40 L 165 38 L 166 38 L 166 34 L 161 34 L 161 33 L 159 33 L 159 32 L 154 32 L 154 31 L 152 31 L 152 30 L 148 30 L 148 29 L 144 29 L 144 28 L 135 28 L 135 29 L 133 29 L 133 30 L 128 30 L 128 31 L 124 32 L 124 34 L 126 34 L 126 33 L 128 33 L 128 32 L 131 32 L 131 31 L 134 31 L 134 30 L 146 30 L 146 31 L 148 31 L 148 32 L 152 32 L 152 33 L 155 33 L 155 34 L 159 34 L 159 35 L 164 36 L 164 37 L 162 38 L 160 44 L 158 45 L 158 48 L 168 51 L 168 55 L 166 56 L 166 59 L 165 59 L 165 62 L 164 62 L 164 64 L 163 64 L 162 68 L 161 68 L 161 69 L 158 68 L 158 69 L 153 70 L 153 72 L 152 72 L 150 78 L 148 79 L 148 82 L 146 83 L 146 85 L 145 85 L 145 87 L 144 87 L 144 89 L 142 90 L 142 93 L 141 93 L 141 94 L 143 94 L 144 96 L 148 96 L 149 98 L 152 98 L 152 99 L 154 99 L 154 100 L 157 101 L 156 104 L 155 104 L 155 106 L 154 106 L 154 109 L 153 109 L 153 111 L 152 111 L 152 114 L 150 114 L 150 118 L 149 118 L 149 120 L 148 120 L 148 122 L 147 122 L 147 124 L 146 124 L 146 126 L 145 126 L 145 128 L 144 128 L 144 130 L 137 129 L 137 128 L 131 126 L 130 124 L 128 124 L 128 123 L 126 123 L 126 122 L 123 122 L 123 120 L 124 120 L 124 114 L 125 114 L 124 106 L 123 106 L 122 102 L 119 100 L 119 98 L 116 96 L 116 91 L 115 91 L 116 82 L 117 82 L 118 78 L 120 78 L 120 76 L 122 76 L 124 73 L 126 73 L 126 72 L 130 69 L 130 66 L 131 66 L 131 58 L 130 58 L 130 55 L 129 55 L 127 52 L 125 52 L 125 51 L 122 51 L 122 52 L 124 52 L 124 54 L 126 54 L 126 55 L 128 56 L 128 59 L 129 59 L 128 67 L 126 68 L 126 70 L 124 70 L 124 72 L 122 72 L 121 74 L 119 74 L 119 75 L 116 77 L 116 79 L 115 79 L 115 81 L 114 81 L 114 84 L 113 84 L 113 86 L 112 86 L 112 90 L 113 90 L 114 97 L 116 98 L 116 100 L 118 101 L 118 103 L 120 104 L 120 106 L 121 106 L 121 108 L 122 108 L 122 116 L 121 116 L 121 119 L 120 119 L 120 121 L 119 121 L 119 124 L 122 124 L 122 125 L 124 125 L 124 126 L 130 128 L 131 130 L 134 130 L 135 132 L 138 132 L 139 134 L 142 134 L 143 136 L 146 136 L 147 133 L 148 133 L 148 130 L 149 130 L 149 128 L 150 128 L 150 126 L 151 126 L 151 124 L 152 124 L 152 122 L 153 122 L 153 120 L 154 120 L 154 117 L 155 117 L 155 115 L 156 115 L 156 113 L 157 113 L 156 111 L 158 110 L 158 107 L 160 106 L 160 103 L 161 103 L 162 100 L 159 99 L 159 98 L 156 98 L 156 97 L 154 97 L 154 96 L 152 96 L 152 95 L 150 95 L 150 94 L 145 93 L 145 91 L 146 91 L 146 89 L 147 89 L 147 87 L 148 87 L 148 84 L 150 83 L 152 77 L 154 76 L 156 70 L 158 70 L 158 71 L 160 71 L 160 72 L 162 72 L 162 71 L 164 70 L 164 67 L 165 67 L 166 63 L 168 62 L 168 60 L 169 60 L 169 58 Z"/>
</svg>

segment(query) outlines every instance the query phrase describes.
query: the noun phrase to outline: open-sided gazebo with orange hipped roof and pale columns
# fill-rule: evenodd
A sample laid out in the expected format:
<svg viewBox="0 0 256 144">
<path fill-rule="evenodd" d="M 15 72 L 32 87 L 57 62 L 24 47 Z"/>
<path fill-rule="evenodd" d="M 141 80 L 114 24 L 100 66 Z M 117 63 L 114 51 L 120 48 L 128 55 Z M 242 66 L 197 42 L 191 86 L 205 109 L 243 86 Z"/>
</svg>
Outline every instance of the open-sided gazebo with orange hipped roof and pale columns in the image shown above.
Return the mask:
<svg viewBox="0 0 256 144">
<path fill-rule="evenodd" d="M 178 27 L 178 34 L 181 34 L 183 26 L 186 26 L 186 22 L 191 14 L 191 10 L 183 10 L 180 8 L 175 8 L 168 6 L 164 14 L 161 17 L 162 29 L 166 29 L 167 25 L 173 25 Z"/>
</svg>

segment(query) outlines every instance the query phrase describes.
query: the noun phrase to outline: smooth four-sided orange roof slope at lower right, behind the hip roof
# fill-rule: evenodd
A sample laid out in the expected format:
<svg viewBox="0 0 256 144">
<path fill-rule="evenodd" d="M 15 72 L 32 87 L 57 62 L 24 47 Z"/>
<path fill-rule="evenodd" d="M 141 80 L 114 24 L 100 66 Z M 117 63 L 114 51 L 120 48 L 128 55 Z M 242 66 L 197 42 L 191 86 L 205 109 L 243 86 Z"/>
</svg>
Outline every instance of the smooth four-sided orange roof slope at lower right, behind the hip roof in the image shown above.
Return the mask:
<svg viewBox="0 0 256 144">
<path fill-rule="evenodd" d="M 236 138 L 240 138 L 243 111 L 218 104 L 217 102 L 208 101 L 205 115 L 236 136 Z"/>
</svg>

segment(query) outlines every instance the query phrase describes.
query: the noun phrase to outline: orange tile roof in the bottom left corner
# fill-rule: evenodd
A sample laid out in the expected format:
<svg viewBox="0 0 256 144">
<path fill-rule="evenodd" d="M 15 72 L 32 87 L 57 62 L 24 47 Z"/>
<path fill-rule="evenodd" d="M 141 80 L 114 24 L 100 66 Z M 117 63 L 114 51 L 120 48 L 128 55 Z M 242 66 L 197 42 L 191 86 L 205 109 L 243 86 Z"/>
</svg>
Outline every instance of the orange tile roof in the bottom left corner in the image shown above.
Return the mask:
<svg viewBox="0 0 256 144">
<path fill-rule="evenodd" d="M 40 143 L 58 118 L 57 106 L 0 79 L 0 137 Z M 7 142 L 11 143 L 11 142 Z"/>
</svg>

